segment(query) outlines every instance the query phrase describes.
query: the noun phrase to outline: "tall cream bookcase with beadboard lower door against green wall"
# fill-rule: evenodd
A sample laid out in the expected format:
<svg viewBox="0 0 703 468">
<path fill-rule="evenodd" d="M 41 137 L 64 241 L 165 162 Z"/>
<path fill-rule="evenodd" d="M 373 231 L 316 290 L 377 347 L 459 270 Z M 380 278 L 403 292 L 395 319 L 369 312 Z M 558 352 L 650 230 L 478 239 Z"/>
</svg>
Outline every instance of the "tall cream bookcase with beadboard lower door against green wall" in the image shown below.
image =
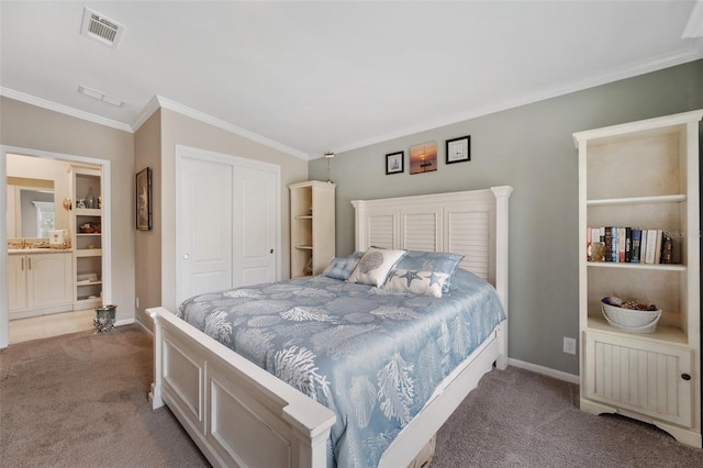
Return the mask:
<svg viewBox="0 0 703 468">
<path fill-rule="evenodd" d="M 581 410 L 701 447 L 699 121 L 703 110 L 573 134 L 579 148 Z M 589 261 L 587 229 L 668 231 L 673 264 Z M 611 326 L 601 299 L 655 303 L 654 333 Z"/>
</svg>

